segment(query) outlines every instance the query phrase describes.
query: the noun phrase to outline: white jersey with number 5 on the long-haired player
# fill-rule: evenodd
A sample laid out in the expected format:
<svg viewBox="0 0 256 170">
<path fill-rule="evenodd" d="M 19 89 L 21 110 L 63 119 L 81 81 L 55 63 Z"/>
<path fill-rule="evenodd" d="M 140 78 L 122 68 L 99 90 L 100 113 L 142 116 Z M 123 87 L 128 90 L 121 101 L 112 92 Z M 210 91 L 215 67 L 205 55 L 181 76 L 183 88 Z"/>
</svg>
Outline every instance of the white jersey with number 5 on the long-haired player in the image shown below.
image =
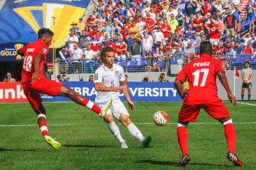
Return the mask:
<svg viewBox="0 0 256 170">
<path fill-rule="evenodd" d="M 114 87 L 120 86 L 120 81 L 125 81 L 126 77 L 123 72 L 123 67 L 113 64 L 113 69 L 108 69 L 101 65 L 95 71 L 94 83 L 101 83 L 103 86 Z M 110 98 L 118 98 L 119 91 L 98 91 L 95 98 L 95 103 L 106 103 Z"/>
</svg>

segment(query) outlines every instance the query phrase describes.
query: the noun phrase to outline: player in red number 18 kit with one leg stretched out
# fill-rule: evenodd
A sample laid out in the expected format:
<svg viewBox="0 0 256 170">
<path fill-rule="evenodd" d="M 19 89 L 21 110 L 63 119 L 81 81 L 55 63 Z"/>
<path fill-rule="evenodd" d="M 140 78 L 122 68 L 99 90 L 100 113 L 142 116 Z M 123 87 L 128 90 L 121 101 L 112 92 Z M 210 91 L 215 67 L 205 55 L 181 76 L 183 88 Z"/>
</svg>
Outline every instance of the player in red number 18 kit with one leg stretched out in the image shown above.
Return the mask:
<svg viewBox="0 0 256 170">
<path fill-rule="evenodd" d="M 77 94 L 74 90 L 69 89 L 64 84 L 57 81 L 46 79 L 43 74 L 44 64 L 49 52 L 49 46 L 52 43 L 54 33 L 48 28 L 38 30 L 38 41 L 30 42 L 25 47 L 17 51 L 18 55 L 24 56 L 22 81 L 24 94 L 38 115 L 38 125 L 43 134 L 45 142 L 54 149 L 60 149 L 61 145 L 50 137 L 46 124 L 46 111 L 42 103 L 40 94 L 48 94 L 50 96 L 65 96 L 75 103 L 91 109 L 101 117 L 105 117 L 108 108 L 111 106 L 112 100 L 105 106 L 99 107 L 92 103 L 88 98 Z"/>
</svg>

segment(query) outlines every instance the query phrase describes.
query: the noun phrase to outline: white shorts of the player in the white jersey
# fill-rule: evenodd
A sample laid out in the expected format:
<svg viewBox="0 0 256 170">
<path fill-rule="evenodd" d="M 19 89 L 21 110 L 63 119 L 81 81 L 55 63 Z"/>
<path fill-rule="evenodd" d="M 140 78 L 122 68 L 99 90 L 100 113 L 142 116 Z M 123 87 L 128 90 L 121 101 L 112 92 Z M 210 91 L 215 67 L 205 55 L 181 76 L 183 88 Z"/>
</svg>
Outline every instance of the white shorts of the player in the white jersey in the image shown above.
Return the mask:
<svg viewBox="0 0 256 170">
<path fill-rule="evenodd" d="M 95 104 L 98 106 L 104 106 L 105 103 L 95 102 Z M 118 97 L 113 98 L 112 105 L 106 114 L 112 114 L 117 120 L 119 120 L 120 114 L 129 115 L 126 107 L 123 105 L 123 102 Z"/>
</svg>

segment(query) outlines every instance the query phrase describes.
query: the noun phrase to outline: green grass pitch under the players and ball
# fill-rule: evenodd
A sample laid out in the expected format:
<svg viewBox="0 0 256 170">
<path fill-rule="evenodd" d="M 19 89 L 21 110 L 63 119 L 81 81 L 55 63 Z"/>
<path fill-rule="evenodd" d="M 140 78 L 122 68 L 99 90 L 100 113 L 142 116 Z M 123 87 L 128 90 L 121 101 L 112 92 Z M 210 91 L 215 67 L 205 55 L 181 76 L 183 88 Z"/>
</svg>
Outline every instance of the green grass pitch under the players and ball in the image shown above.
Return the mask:
<svg viewBox="0 0 256 170">
<path fill-rule="evenodd" d="M 236 153 L 244 162 L 238 168 L 255 169 L 256 102 L 225 105 L 235 125 Z M 50 135 L 62 147 L 52 149 L 43 140 L 28 103 L 1 103 L 0 169 L 181 169 L 177 167 L 182 152 L 176 131 L 182 103 L 136 102 L 130 117 L 143 135 L 152 136 L 151 148 L 143 148 L 116 120 L 128 149 L 120 148 L 102 118 L 89 109 L 71 102 L 44 106 Z M 153 123 L 156 111 L 169 115 L 167 125 L 157 127 Z M 221 123 L 201 111 L 197 122 L 187 129 L 191 163 L 185 169 L 235 169 L 226 159 L 228 149 Z"/>
</svg>

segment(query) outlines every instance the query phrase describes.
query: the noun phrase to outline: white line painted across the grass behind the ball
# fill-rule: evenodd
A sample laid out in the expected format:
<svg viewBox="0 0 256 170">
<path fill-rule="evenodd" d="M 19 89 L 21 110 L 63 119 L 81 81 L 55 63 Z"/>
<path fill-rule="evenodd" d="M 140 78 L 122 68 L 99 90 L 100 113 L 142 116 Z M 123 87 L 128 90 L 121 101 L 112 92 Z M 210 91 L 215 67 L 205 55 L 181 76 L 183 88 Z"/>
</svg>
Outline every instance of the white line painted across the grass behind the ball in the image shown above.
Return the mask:
<svg viewBox="0 0 256 170">
<path fill-rule="evenodd" d="M 121 123 L 117 123 L 121 124 Z M 135 123 L 136 125 L 155 125 L 155 123 Z M 220 125 L 221 123 L 189 123 L 189 125 Z M 233 123 L 233 124 L 256 124 L 252 123 Z M 104 123 L 84 123 L 84 124 L 52 124 L 48 126 L 70 126 L 70 125 L 104 125 Z M 167 123 L 167 125 L 177 125 L 177 123 Z M 0 127 L 28 127 L 38 125 L 0 125 Z"/>
</svg>

